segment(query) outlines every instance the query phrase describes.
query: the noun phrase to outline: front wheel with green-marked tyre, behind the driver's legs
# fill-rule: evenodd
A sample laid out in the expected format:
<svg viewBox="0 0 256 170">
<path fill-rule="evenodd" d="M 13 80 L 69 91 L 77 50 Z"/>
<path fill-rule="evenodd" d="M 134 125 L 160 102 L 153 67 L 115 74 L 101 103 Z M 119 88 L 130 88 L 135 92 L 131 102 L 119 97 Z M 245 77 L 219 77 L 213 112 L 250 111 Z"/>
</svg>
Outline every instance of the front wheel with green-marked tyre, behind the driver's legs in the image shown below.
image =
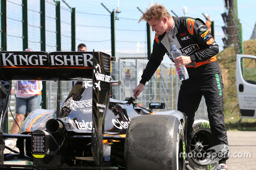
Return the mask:
<svg viewBox="0 0 256 170">
<path fill-rule="evenodd" d="M 218 166 L 218 162 L 212 161 L 209 156 L 212 155 L 212 151 L 208 149 L 212 147 L 213 139 L 209 119 L 201 115 L 195 116 L 193 129 L 190 145 L 191 154 L 187 155 L 186 170 L 214 170 Z"/>
</svg>

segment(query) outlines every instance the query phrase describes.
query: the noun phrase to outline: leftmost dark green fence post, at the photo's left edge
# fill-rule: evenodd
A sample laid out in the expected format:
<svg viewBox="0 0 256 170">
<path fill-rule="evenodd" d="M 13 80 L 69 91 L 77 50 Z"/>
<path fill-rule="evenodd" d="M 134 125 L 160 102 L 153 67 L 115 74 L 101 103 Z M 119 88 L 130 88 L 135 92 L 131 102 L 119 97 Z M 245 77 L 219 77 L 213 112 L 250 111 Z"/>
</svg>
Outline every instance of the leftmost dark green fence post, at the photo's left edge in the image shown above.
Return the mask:
<svg viewBox="0 0 256 170">
<path fill-rule="evenodd" d="M 7 51 L 7 0 L 1 0 L 1 50 Z"/>
</svg>

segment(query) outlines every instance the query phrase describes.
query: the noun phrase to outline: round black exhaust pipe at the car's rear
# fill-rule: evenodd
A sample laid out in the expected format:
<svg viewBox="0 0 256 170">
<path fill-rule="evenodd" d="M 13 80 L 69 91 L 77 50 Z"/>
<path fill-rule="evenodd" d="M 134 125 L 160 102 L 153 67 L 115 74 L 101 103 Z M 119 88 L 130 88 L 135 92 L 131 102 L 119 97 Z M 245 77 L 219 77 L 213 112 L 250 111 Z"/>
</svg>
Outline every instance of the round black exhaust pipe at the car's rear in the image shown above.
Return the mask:
<svg viewBox="0 0 256 170">
<path fill-rule="evenodd" d="M 65 127 L 63 126 L 62 122 L 56 119 L 50 119 L 46 122 L 46 130 L 54 135 L 60 135 L 65 131 Z"/>
</svg>

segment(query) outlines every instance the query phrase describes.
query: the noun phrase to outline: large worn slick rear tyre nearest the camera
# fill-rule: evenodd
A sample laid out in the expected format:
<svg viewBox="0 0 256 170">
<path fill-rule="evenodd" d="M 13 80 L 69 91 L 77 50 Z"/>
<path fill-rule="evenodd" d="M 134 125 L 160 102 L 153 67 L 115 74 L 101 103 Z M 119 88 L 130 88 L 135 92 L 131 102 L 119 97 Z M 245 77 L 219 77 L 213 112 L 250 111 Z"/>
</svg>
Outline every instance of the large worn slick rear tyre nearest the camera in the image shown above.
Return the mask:
<svg viewBox="0 0 256 170">
<path fill-rule="evenodd" d="M 184 150 L 184 133 L 177 117 L 137 116 L 126 131 L 124 166 L 126 170 L 183 170 Z"/>
</svg>

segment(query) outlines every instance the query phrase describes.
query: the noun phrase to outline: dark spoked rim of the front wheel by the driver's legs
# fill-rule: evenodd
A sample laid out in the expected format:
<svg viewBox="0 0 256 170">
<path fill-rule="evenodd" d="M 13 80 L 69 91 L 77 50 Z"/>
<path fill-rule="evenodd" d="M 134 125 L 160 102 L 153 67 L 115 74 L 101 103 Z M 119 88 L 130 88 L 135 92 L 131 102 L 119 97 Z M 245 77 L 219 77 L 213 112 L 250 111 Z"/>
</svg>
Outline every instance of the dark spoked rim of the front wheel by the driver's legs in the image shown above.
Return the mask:
<svg viewBox="0 0 256 170">
<path fill-rule="evenodd" d="M 208 150 L 211 147 L 212 134 L 208 129 L 199 129 L 192 136 L 190 144 L 190 153 L 193 154 L 191 159 L 199 165 L 208 165 L 211 162 L 212 151 Z M 208 150 L 208 151 L 207 151 Z"/>
</svg>

